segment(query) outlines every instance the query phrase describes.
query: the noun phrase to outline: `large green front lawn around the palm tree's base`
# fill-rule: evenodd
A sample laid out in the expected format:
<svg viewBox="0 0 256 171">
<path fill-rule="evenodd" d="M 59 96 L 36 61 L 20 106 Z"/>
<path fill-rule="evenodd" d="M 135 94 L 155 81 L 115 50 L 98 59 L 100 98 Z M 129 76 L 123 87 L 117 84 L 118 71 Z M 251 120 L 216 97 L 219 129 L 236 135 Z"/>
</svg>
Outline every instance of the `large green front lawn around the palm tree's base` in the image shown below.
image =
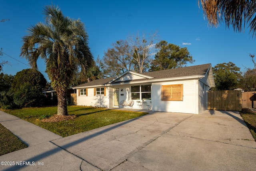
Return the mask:
<svg viewBox="0 0 256 171">
<path fill-rule="evenodd" d="M 57 114 L 57 106 L 3 111 L 54 132 L 62 137 L 71 136 L 80 132 L 85 132 L 147 114 L 146 112 L 109 110 L 108 108 L 68 106 L 68 114 L 76 115 L 76 118 L 73 120 L 42 122 L 42 118 Z"/>
</svg>

